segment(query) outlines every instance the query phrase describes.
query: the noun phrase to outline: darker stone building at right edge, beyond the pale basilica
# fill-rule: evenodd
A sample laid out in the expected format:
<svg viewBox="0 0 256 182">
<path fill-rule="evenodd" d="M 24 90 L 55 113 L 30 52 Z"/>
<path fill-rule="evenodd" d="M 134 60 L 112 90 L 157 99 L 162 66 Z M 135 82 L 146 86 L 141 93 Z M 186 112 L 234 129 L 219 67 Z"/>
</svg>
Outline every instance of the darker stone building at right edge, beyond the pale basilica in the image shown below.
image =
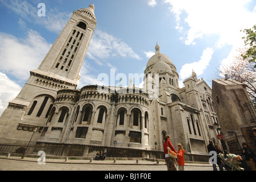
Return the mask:
<svg viewBox="0 0 256 182">
<path fill-rule="evenodd" d="M 241 155 L 246 142 L 256 152 L 256 112 L 246 85 L 228 78 L 213 80 L 213 100 L 226 150 Z"/>
</svg>

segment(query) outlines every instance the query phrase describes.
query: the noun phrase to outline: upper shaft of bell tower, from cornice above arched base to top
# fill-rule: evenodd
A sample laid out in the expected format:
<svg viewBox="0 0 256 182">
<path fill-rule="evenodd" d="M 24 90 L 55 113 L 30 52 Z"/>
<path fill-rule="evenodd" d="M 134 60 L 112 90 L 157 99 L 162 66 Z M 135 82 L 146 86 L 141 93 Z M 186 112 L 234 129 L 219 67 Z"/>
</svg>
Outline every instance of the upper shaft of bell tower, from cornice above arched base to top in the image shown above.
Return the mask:
<svg viewBox="0 0 256 182">
<path fill-rule="evenodd" d="M 94 5 L 74 11 L 38 69 L 32 72 L 51 74 L 77 86 L 85 53 L 97 23 Z"/>
</svg>

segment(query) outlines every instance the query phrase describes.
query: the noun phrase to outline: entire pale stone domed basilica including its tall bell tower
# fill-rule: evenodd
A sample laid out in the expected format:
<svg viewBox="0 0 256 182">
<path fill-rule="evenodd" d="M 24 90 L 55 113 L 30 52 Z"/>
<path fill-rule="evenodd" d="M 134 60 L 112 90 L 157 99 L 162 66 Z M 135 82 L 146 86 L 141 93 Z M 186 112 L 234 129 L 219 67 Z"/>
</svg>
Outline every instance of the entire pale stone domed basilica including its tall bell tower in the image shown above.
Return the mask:
<svg viewBox="0 0 256 182">
<path fill-rule="evenodd" d="M 175 148 L 183 145 L 186 160 L 208 161 L 208 141 L 219 143 L 211 88 L 194 71 L 179 88 L 177 69 L 158 44 L 147 62 L 143 89 L 133 80 L 127 88 L 77 89 L 96 23 L 94 5 L 74 11 L 41 65 L 30 71 L 21 92 L 3 112 L 0 142 L 27 144 L 34 134 L 31 142 L 46 155 L 65 155 L 44 148 L 58 145 L 80 150 L 79 156 L 94 156 L 101 147 L 109 153 L 118 148 L 117 156 L 143 157 L 153 155 L 153 149 L 161 153 L 168 134 Z M 33 133 L 35 127 L 38 132 Z"/>
</svg>

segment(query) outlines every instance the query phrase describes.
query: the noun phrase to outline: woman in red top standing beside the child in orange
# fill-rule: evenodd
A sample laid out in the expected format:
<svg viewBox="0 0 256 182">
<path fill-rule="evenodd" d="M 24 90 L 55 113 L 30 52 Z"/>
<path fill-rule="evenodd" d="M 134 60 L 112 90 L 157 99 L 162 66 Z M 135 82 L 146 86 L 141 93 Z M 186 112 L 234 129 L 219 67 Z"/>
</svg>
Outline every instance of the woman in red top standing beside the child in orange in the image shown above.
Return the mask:
<svg viewBox="0 0 256 182">
<path fill-rule="evenodd" d="M 170 135 L 166 135 L 165 136 L 165 142 L 163 143 L 163 151 L 165 152 L 166 166 L 167 166 L 168 171 L 177 171 L 177 168 L 175 167 L 176 160 L 174 158 L 171 158 L 168 155 L 167 147 L 170 147 L 171 150 L 173 150 L 177 154 L 177 151 L 173 147 L 173 144 L 171 144 L 170 139 L 171 139 Z"/>
</svg>

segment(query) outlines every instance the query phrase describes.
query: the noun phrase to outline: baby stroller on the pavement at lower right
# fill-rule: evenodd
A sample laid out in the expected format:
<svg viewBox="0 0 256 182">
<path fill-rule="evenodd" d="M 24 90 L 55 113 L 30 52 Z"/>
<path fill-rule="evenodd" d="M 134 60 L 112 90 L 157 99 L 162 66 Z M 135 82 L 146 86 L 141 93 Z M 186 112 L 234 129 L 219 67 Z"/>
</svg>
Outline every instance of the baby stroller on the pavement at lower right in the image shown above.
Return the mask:
<svg viewBox="0 0 256 182">
<path fill-rule="evenodd" d="M 239 167 L 239 160 L 242 160 L 241 156 L 235 155 L 235 154 L 218 154 L 219 159 L 221 159 L 222 163 L 224 164 L 224 167 L 228 171 L 244 171 L 245 169 L 242 167 Z"/>
</svg>

